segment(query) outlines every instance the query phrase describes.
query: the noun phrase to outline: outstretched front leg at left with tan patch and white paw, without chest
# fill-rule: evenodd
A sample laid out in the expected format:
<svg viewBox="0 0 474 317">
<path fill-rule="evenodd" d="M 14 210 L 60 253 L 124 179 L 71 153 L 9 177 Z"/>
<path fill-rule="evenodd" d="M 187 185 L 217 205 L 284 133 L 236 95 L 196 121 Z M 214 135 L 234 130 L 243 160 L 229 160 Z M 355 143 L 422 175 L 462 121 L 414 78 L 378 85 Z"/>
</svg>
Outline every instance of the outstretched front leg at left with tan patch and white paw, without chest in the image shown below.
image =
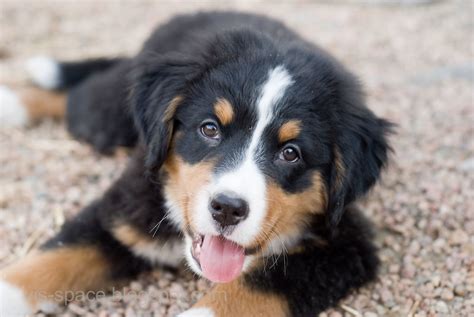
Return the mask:
<svg viewBox="0 0 474 317">
<path fill-rule="evenodd" d="M 53 312 L 150 268 L 104 228 L 102 207 L 87 207 L 39 250 L 0 271 L 1 316 Z"/>
</svg>

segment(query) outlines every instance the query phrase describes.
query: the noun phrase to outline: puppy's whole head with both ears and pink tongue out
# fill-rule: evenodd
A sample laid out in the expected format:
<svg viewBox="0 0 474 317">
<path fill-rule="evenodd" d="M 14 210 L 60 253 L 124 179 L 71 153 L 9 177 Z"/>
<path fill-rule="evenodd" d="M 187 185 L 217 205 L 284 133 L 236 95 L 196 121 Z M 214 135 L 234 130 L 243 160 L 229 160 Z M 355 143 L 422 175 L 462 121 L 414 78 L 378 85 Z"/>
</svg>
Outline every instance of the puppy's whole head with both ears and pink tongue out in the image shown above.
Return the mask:
<svg viewBox="0 0 474 317">
<path fill-rule="evenodd" d="M 314 47 L 231 33 L 198 51 L 141 58 L 133 111 L 188 264 L 227 282 L 313 217 L 336 226 L 378 179 L 390 125 Z"/>
</svg>

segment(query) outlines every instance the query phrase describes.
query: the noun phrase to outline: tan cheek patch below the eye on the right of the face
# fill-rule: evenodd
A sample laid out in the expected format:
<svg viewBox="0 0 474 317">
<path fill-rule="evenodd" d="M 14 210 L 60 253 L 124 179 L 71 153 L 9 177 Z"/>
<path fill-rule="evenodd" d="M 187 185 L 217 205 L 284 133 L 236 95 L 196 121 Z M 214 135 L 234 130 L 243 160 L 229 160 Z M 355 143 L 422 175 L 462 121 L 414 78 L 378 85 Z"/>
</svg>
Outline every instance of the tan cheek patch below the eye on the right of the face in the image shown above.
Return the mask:
<svg viewBox="0 0 474 317">
<path fill-rule="evenodd" d="M 321 214 L 326 209 L 326 186 L 319 172 L 313 175 L 312 185 L 304 192 L 289 194 L 275 183 L 269 183 L 267 190 L 265 226 L 255 242 L 261 248 L 265 248 L 276 234 L 291 236 L 298 233 L 311 215 Z"/>
</svg>

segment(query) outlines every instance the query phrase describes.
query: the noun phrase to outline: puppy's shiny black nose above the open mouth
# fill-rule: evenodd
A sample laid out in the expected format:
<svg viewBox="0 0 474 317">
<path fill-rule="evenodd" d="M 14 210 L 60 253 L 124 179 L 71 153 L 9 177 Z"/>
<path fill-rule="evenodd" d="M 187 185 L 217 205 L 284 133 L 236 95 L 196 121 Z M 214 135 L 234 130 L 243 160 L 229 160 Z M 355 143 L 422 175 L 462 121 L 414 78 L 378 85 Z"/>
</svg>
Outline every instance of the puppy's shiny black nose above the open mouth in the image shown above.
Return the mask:
<svg viewBox="0 0 474 317">
<path fill-rule="evenodd" d="M 240 198 L 219 194 L 211 200 L 209 210 L 212 218 L 222 227 L 236 225 L 249 214 L 247 202 Z"/>
</svg>

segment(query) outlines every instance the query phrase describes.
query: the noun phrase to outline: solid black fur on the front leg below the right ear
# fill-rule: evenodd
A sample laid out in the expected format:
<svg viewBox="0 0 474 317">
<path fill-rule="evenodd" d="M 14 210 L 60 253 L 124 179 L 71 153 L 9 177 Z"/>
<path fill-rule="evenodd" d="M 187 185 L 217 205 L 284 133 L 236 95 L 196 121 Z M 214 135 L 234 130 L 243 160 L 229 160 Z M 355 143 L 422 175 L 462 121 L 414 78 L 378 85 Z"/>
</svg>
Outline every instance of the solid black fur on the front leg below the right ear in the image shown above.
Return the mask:
<svg viewBox="0 0 474 317">
<path fill-rule="evenodd" d="M 265 270 L 247 276 L 250 287 L 282 295 L 293 316 L 317 316 L 373 281 L 379 260 L 370 224 L 358 210 L 348 209 L 337 234 L 328 232 L 324 218 L 316 218 L 302 242 L 304 251 L 268 258 Z"/>
</svg>

